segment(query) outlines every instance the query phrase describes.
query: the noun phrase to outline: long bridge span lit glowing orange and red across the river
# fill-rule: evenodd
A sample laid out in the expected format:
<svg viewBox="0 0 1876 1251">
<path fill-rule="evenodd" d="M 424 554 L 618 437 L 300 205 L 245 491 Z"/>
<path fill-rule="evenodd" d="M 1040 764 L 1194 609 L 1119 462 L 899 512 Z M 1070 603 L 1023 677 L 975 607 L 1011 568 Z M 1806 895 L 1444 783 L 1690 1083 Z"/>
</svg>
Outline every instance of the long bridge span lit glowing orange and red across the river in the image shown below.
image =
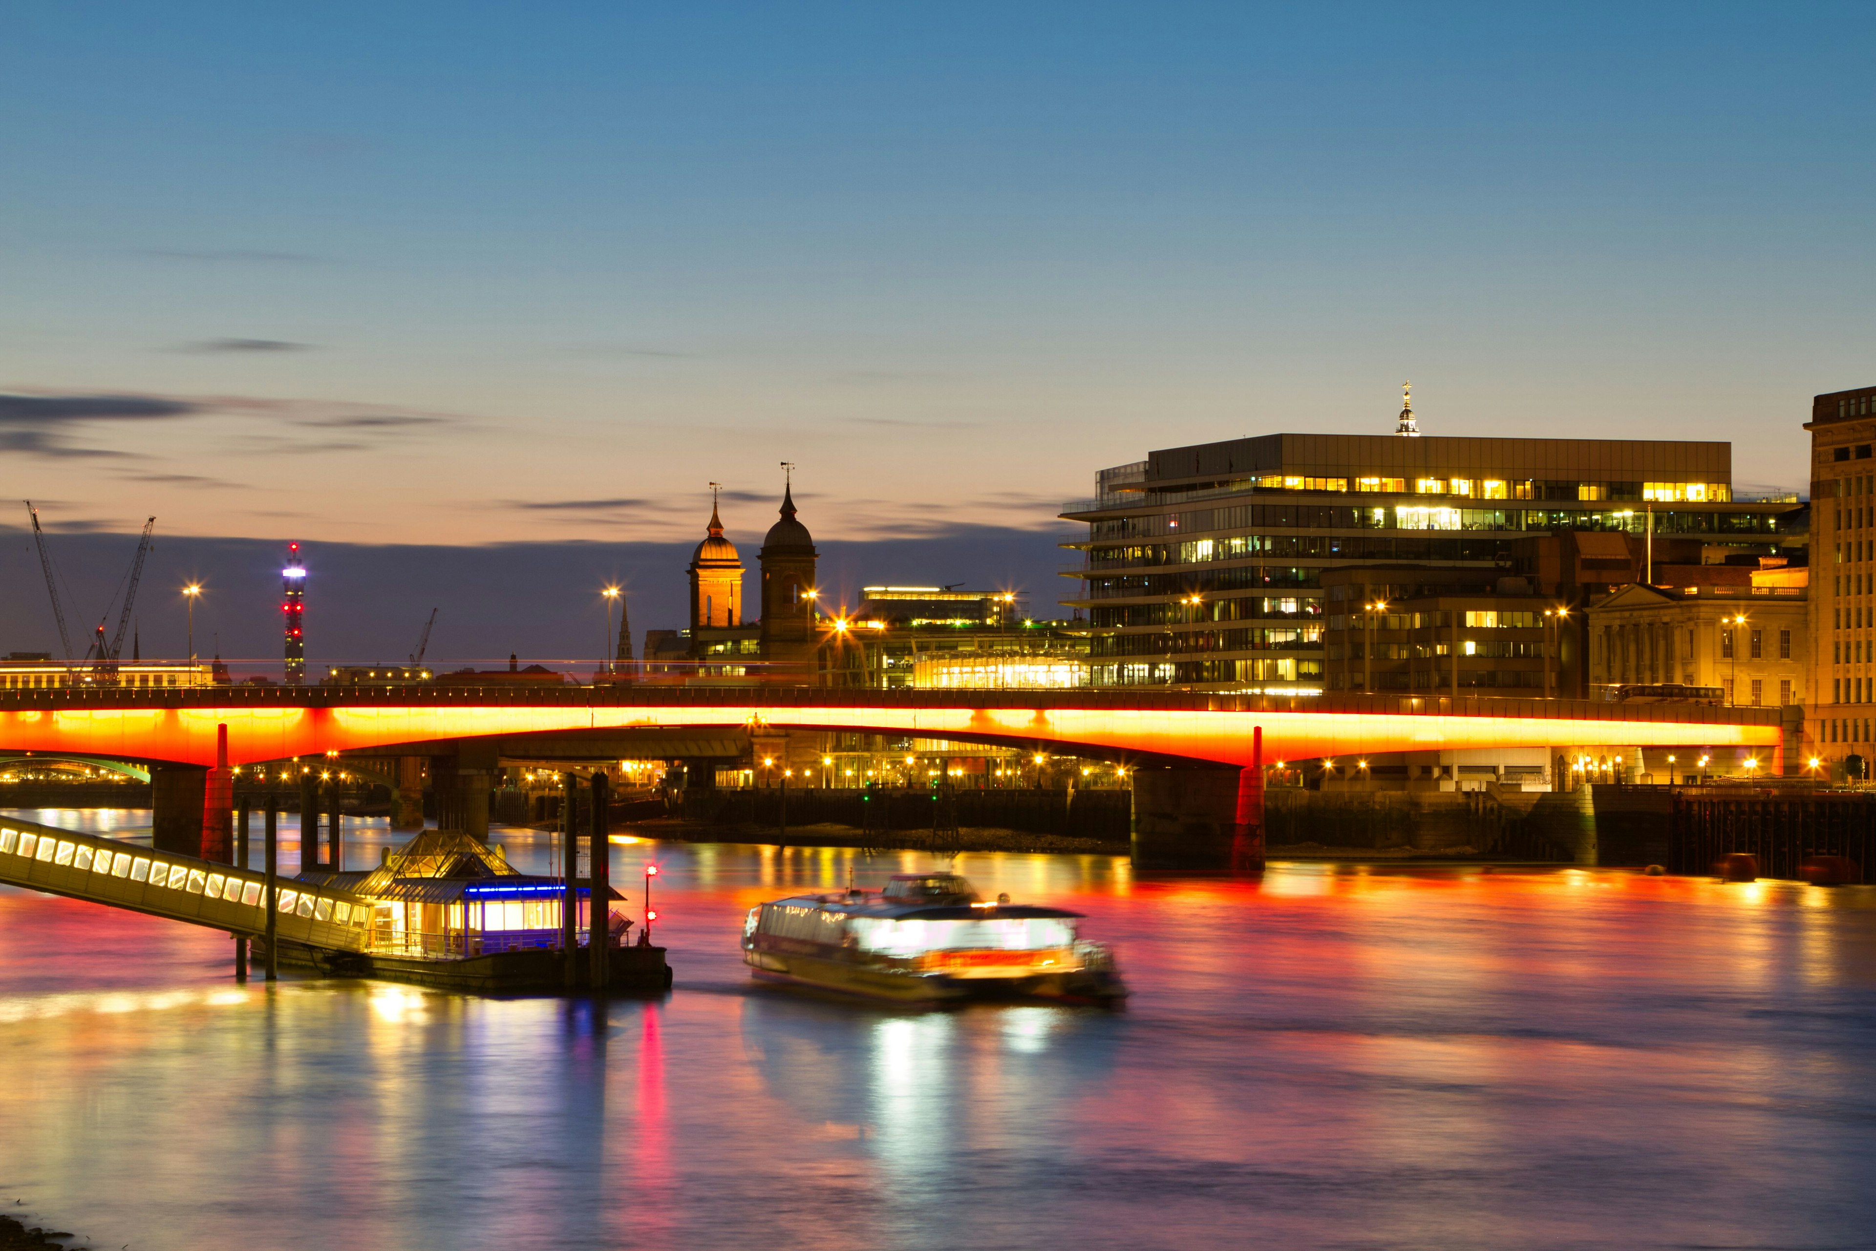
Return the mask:
<svg viewBox="0 0 1876 1251">
<path fill-rule="evenodd" d="M 987 743 L 1142 767 L 1172 791 L 1221 767 L 1383 752 L 1546 748 L 1743 748 L 1782 771 L 1778 709 L 1443 696 L 1219 696 L 1105 690 L 822 690 L 812 686 L 221 686 L 13 690 L 0 694 L 0 752 L 116 758 L 152 767 L 158 837 L 163 775 L 285 758 L 454 758 L 486 795 L 507 760 L 722 760 L 752 733 L 835 731 Z M 1261 760 L 1259 760 L 1261 743 Z M 1161 780 L 1154 780 L 1163 773 Z M 1157 788 L 1157 790 L 1156 790 Z M 201 795 L 197 788 L 193 791 Z M 1167 791 L 1171 793 L 1171 791 Z M 1157 801 L 1152 801 L 1157 803 Z M 1178 808 L 1184 801 L 1172 795 Z M 1206 801 L 1212 803 L 1212 801 Z M 1216 803 L 1214 803 L 1216 806 Z M 1240 812 L 1242 818 L 1242 812 Z M 480 821 L 486 821 L 486 803 Z M 477 818 L 467 820 L 471 833 Z M 1229 818 L 1227 818 L 1229 823 Z M 180 848 L 178 848 L 180 850 Z"/>
</svg>

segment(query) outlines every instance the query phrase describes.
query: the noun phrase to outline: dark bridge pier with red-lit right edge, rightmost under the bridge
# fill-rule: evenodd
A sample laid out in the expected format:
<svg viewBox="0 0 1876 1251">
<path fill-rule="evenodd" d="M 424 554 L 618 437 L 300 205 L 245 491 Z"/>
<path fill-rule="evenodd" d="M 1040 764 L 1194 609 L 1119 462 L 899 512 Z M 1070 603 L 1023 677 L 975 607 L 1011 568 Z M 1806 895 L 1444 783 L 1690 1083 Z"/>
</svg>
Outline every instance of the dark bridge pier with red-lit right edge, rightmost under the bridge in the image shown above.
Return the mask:
<svg viewBox="0 0 1876 1251">
<path fill-rule="evenodd" d="M 1263 812 L 1240 825 L 1248 769 L 1135 769 L 1133 867 L 1142 870 L 1263 870 Z M 1261 790 L 1253 790 L 1261 801 Z M 1255 842 L 1255 848 L 1251 846 Z"/>
</svg>

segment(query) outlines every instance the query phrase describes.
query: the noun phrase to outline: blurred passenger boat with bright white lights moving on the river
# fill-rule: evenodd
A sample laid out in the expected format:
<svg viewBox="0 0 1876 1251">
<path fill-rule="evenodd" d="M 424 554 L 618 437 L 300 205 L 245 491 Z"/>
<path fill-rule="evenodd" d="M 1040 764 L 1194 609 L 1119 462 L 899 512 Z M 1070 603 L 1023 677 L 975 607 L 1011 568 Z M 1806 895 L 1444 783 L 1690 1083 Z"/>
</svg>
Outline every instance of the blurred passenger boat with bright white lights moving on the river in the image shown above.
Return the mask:
<svg viewBox="0 0 1876 1251">
<path fill-rule="evenodd" d="M 743 962 L 764 981 L 884 1000 L 1114 1002 L 1112 953 L 1079 912 L 983 902 L 957 874 L 895 874 L 884 891 L 799 895 L 749 910 Z"/>
</svg>

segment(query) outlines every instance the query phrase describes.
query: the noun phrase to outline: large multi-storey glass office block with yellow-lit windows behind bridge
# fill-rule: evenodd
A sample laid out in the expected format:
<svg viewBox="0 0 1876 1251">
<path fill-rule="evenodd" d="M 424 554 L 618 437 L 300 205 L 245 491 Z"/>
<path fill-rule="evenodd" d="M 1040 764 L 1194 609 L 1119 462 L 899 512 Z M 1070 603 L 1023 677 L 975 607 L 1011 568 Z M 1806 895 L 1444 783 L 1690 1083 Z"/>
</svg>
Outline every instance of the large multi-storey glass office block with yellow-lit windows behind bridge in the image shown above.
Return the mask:
<svg viewBox="0 0 1876 1251">
<path fill-rule="evenodd" d="M 1795 495 L 1733 491 L 1728 443 L 1420 437 L 1411 409 L 1399 426 L 1203 443 L 1103 469 L 1097 495 L 1062 510 L 1088 525 L 1086 540 L 1067 544 L 1084 550 L 1082 565 L 1064 572 L 1082 580 L 1067 602 L 1092 625 L 1090 685 L 1336 686 L 1354 666 L 1328 664 L 1330 643 L 1356 636 L 1362 610 L 1358 580 L 1324 587 L 1336 568 L 1469 568 L 1486 593 L 1521 596 L 1523 608 L 1580 610 L 1642 581 L 1643 551 L 1657 563 L 1756 565 L 1803 542 Z M 1424 638 L 1399 634 L 1426 651 L 1428 681 L 1441 681 L 1443 649 L 1510 647 L 1491 634 L 1499 619 L 1471 608 L 1458 623 L 1428 623 Z M 1580 628 L 1581 615 L 1572 621 Z M 1520 645 L 1540 645 L 1542 630 L 1529 634 Z"/>
</svg>

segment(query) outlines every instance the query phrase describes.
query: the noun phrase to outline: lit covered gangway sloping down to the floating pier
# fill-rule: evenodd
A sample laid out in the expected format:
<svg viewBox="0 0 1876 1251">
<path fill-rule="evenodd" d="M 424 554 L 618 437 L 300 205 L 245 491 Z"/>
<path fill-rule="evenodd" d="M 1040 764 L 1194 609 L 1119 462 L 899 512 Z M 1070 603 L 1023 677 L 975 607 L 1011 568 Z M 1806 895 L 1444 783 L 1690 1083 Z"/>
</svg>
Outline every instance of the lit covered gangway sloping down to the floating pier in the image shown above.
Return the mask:
<svg viewBox="0 0 1876 1251">
<path fill-rule="evenodd" d="M 38 821 L 0 818 L 0 882 L 231 934 L 266 932 L 266 874 Z M 371 906 L 364 898 L 280 878 L 274 910 L 281 940 L 366 947 Z"/>
</svg>

